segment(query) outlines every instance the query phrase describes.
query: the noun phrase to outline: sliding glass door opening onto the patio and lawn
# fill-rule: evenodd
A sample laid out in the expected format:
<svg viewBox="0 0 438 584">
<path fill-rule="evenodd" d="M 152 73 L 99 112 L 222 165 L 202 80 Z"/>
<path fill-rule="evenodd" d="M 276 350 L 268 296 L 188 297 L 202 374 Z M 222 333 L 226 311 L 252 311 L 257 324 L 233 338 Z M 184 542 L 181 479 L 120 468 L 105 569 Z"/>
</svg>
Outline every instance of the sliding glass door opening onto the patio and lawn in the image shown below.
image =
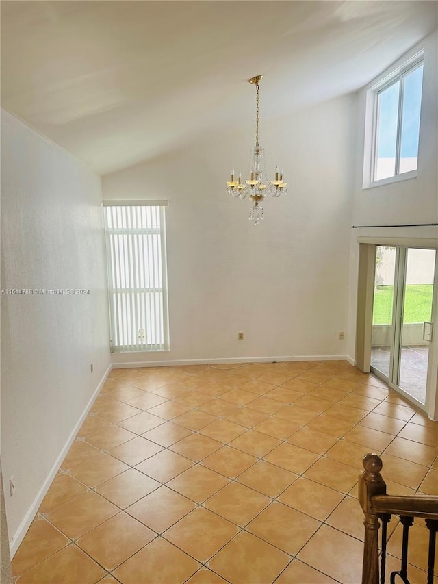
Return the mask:
<svg viewBox="0 0 438 584">
<path fill-rule="evenodd" d="M 435 250 L 376 246 L 371 366 L 424 407 L 433 336 Z"/>
</svg>

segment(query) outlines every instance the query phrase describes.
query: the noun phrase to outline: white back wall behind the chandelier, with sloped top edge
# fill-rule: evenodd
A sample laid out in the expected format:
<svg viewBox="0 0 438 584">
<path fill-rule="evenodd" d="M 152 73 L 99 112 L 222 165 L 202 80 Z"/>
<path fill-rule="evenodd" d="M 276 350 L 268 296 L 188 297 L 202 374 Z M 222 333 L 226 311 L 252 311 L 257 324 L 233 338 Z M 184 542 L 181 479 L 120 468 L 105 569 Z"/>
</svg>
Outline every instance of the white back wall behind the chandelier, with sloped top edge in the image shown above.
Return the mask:
<svg viewBox="0 0 438 584">
<path fill-rule="evenodd" d="M 103 177 L 104 199 L 169 201 L 170 351 L 113 363 L 346 354 L 354 120 L 354 96 L 261 116 L 289 195 L 264 201 L 257 227 L 250 201 L 225 194 L 231 168 L 246 173 L 252 127 Z"/>
</svg>

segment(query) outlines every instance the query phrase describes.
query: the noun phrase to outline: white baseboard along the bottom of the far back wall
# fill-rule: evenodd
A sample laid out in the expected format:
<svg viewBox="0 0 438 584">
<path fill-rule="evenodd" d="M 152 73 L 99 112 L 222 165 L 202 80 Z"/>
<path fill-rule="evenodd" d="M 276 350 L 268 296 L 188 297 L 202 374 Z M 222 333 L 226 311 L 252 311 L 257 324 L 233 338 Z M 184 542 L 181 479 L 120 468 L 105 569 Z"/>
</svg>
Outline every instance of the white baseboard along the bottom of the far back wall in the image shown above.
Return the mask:
<svg viewBox="0 0 438 584">
<path fill-rule="evenodd" d="M 136 367 L 166 367 L 178 365 L 208 365 L 226 363 L 279 363 L 280 361 L 348 361 L 346 355 L 296 355 L 294 357 L 223 357 L 222 359 L 178 359 L 169 361 L 114 362 L 113 369 Z"/>
</svg>

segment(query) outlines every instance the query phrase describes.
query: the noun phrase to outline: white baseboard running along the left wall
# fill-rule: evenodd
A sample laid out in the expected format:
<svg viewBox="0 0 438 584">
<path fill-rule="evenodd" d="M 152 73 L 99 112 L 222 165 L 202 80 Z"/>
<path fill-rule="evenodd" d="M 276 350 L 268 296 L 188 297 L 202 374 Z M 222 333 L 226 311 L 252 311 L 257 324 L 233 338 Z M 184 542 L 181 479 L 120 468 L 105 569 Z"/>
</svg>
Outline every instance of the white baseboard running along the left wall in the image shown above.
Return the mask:
<svg viewBox="0 0 438 584">
<path fill-rule="evenodd" d="M 112 367 L 111 365 L 108 366 L 107 370 L 103 374 L 101 381 L 99 381 L 99 385 L 94 390 L 94 392 L 90 398 L 90 401 L 88 401 L 88 404 L 86 405 L 86 408 L 83 410 L 81 417 L 77 421 L 77 424 L 73 428 L 73 431 L 70 433 L 70 436 L 68 437 L 66 444 L 64 444 L 64 447 L 62 448 L 60 455 L 57 457 L 55 464 L 53 464 L 53 466 L 52 466 L 52 468 L 47 476 L 47 479 L 42 484 L 42 487 L 38 491 L 37 496 L 34 498 L 34 502 L 29 507 L 29 511 L 27 511 L 25 518 L 23 519 L 20 526 L 16 530 L 16 533 L 12 537 L 12 539 L 10 541 L 11 559 L 14 557 L 14 554 L 16 553 L 16 550 L 18 550 L 18 547 L 20 546 L 21 542 L 23 541 L 23 539 L 27 533 L 27 530 L 29 529 L 31 522 L 34 520 L 34 517 L 36 516 L 36 512 L 40 508 L 42 500 L 44 499 L 44 496 L 46 496 L 46 493 L 49 490 L 49 488 L 53 482 L 53 479 L 56 477 L 58 470 L 60 470 L 60 467 L 62 465 L 62 461 L 64 461 L 64 458 L 66 457 L 66 455 L 68 453 L 68 450 L 70 450 L 70 446 L 73 444 L 73 441 L 75 440 L 75 437 L 79 431 L 79 428 L 81 427 L 81 425 L 83 423 L 83 420 L 85 420 L 86 416 L 88 415 L 88 412 L 90 411 L 90 409 L 94 403 L 94 400 L 99 395 L 99 392 L 102 389 L 103 383 L 105 383 L 105 380 L 107 379 L 108 375 L 110 374 L 111 367 Z"/>
</svg>

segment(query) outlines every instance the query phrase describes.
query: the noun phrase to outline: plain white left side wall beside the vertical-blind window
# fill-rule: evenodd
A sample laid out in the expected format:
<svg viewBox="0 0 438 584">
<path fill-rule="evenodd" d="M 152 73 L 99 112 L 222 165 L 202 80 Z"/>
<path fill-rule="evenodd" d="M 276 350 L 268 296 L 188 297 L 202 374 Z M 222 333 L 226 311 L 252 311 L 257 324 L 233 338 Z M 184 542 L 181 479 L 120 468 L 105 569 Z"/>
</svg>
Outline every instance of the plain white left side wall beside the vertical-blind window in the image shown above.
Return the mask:
<svg viewBox="0 0 438 584">
<path fill-rule="evenodd" d="M 19 539 L 110 355 L 101 179 L 7 112 L 1 138 L 1 288 L 90 289 L 1 296 L 1 461 Z"/>
</svg>

